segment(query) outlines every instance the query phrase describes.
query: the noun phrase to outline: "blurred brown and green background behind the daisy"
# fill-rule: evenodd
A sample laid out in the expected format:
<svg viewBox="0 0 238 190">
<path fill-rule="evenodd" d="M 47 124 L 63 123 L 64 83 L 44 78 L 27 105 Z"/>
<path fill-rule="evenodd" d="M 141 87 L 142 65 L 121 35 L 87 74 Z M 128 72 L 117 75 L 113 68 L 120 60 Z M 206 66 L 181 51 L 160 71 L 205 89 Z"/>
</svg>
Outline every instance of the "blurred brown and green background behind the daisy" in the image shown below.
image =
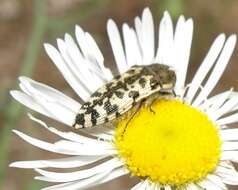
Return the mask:
<svg viewBox="0 0 238 190">
<path fill-rule="evenodd" d="M 219 33 L 238 33 L 237 0 L 0 0 L 0 189 L 35 190 L 47 186 L 33 180 L 33 171 L 9 168 L 8 164 L 14 160 L 56 157 L 24 143 L 11 132 L 16 128 L 35 137 L 54 139 L 30 122 L 26 109 L 10 98 L 9 90 L 17 88 L 17 77 L 33 77 L 77 100 L 44 52 L 43 42 L 55 44 L 56 38 L 63 37 L 66 32 L 74 35 L 74 26 L 79 24 L 96 38 L 104 53 L 105 64 L 115 68 L 106 21 L 113 18 L 120 25 L 123 22 L 133 24 L 134 17 L 141 14 L 145 6 L 152 10 L 156 26 L 165 10 L 170 12 L 174 21 L 180 14 L 194 19 L 190 78 Z M 231 86 L 238 88 L 237 50 L 231 63 L 213 93 Z M 59 126 L 51 120 L 49 122 Z M 124 178 L 94 189 L 122 190 L 133 183 Z"/>
</svg>

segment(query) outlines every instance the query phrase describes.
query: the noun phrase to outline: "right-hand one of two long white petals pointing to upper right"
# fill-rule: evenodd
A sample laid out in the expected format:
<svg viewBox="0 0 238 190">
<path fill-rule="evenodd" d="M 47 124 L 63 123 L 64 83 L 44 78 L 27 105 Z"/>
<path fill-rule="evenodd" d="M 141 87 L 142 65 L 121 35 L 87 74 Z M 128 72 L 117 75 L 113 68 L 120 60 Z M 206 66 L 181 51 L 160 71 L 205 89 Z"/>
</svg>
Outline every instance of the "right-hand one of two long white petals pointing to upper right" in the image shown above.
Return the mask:
<svg viewBox="0 0 238 190">
<path fill-rule="evenodd" d="M 213 90 L 213 88 L 217 84 L 218 80 L 220 79 L 221 75 L 223 74 L 223 72 L 229 62 L 229 59 L 230 59 L 231 54 L 234 50 L 235 44 L 236 44 L 236 36 L 231 35 L 227 39 L 227 41 L 224 45 L 224 48 L 217 60 L 217 63 L 215 65 L 214 69 L 212 70 L 212 73 L 209 76 L 208 80 L 206 81 L 204 88 L 202 89 L 202 91 L 199 93 L 198 97 L 192 104 L 193 106 L 195 106 L 195 107 L 198 106 L 205 98 L 207 98 L 209 93 Z"/>
</svg>

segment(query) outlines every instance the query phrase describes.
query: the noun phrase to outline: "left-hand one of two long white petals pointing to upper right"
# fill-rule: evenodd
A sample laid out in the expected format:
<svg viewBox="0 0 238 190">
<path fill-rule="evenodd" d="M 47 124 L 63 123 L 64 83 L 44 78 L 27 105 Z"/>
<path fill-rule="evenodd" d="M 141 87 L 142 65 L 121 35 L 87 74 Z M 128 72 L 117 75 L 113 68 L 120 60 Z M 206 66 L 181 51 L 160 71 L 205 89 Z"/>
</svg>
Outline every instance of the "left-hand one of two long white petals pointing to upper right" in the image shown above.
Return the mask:
<svg viewBox="0 0 238 190">
<path fill-rule="evenodd" d="M 220 34 L 213 42 L 209 52 L 207 53 L 206 57 L 201 63 L 198 71 L 196 72 L 190 84 L 190 87 L 186 96 L 186 101 L 188 103 L 191 103 L 199 86 L 201 85 L 202 81 L 204 80 L 204 78 L 206 77 L 210 69 L 212 68 L 213 64 L 215 63 L 217 57 L 219 56 L 219 53 L 221 52 L 223 48 L 224 42 L 225 42 L 224 34 Z"/>
</svg>

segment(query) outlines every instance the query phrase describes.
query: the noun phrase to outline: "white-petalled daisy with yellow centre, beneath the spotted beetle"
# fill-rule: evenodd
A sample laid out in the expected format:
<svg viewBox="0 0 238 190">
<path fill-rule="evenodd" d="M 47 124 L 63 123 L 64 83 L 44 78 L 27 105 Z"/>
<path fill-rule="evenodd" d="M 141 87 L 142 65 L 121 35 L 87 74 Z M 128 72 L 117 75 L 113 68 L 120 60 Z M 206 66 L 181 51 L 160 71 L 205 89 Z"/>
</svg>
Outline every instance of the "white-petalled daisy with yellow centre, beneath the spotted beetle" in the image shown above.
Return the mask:
<svg viewBox="0 0 238 190">
<path fill-rule="evenodd" d="M 220 34 L 190 83 L 185 84 L 193 36 L 193 21 L 180 16 L 173 28 L 165 12 L 158 29 L 158 47 L 151 12 L 145 8 L 126 23 L 122 35 L 113 20 L 107 32 L 119 73 L 133 65 L 162 63 L 176 72 L 174 99 L 153 103 L 155 113 L 143 106 L 131 119 L 126 114 L 116 126 L 60 131 L 29 114 L 30 119 L 61 140 L 49 143 L 14 130 L 26 142 L 66 155 L 51 160 L 18 161 L 11 167 L 32 168 L 35 179 L 57 183 L 44 190 L 86 189 L 130 174 L 140 179 L 132 190 L 228 189 L 238 185 L 238 93 L 232 89 L 215 96 L 211 91 L 225 70 L 236 36 Z M 58 48 L 45 44 L 51 60 L 68 84 L 86 101 L 113 78 L 92 36 L 76 26 L 76 41 L 68 34 L 57 40 Z M 60 91 L 20 77 L 21 91 L 11 95 L 29 107 L 67 126 L 72 126 L 81 104 Z M 84 169 L 79 167 L 85 166 Z M 73 168 L 73 172 L 53 171 Z"/>
</svg>

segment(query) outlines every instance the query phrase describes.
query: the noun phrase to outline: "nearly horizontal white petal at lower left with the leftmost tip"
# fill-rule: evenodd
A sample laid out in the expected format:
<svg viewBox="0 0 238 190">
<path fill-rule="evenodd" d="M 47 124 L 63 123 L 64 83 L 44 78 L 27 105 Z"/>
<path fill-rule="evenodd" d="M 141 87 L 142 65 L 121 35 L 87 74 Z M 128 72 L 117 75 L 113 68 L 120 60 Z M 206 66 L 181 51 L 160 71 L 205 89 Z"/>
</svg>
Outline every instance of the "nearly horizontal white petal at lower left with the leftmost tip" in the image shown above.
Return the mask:
<svg viewBox="0 0 238 190">
<path fill-rule="evenodd" d="M 17 161 L 11 163 L 9 166 L 16 168 L 76 168 L 91 164 L 103 158 L 105 156 L 73 156 L 51 160 Z"/>
</svg>

